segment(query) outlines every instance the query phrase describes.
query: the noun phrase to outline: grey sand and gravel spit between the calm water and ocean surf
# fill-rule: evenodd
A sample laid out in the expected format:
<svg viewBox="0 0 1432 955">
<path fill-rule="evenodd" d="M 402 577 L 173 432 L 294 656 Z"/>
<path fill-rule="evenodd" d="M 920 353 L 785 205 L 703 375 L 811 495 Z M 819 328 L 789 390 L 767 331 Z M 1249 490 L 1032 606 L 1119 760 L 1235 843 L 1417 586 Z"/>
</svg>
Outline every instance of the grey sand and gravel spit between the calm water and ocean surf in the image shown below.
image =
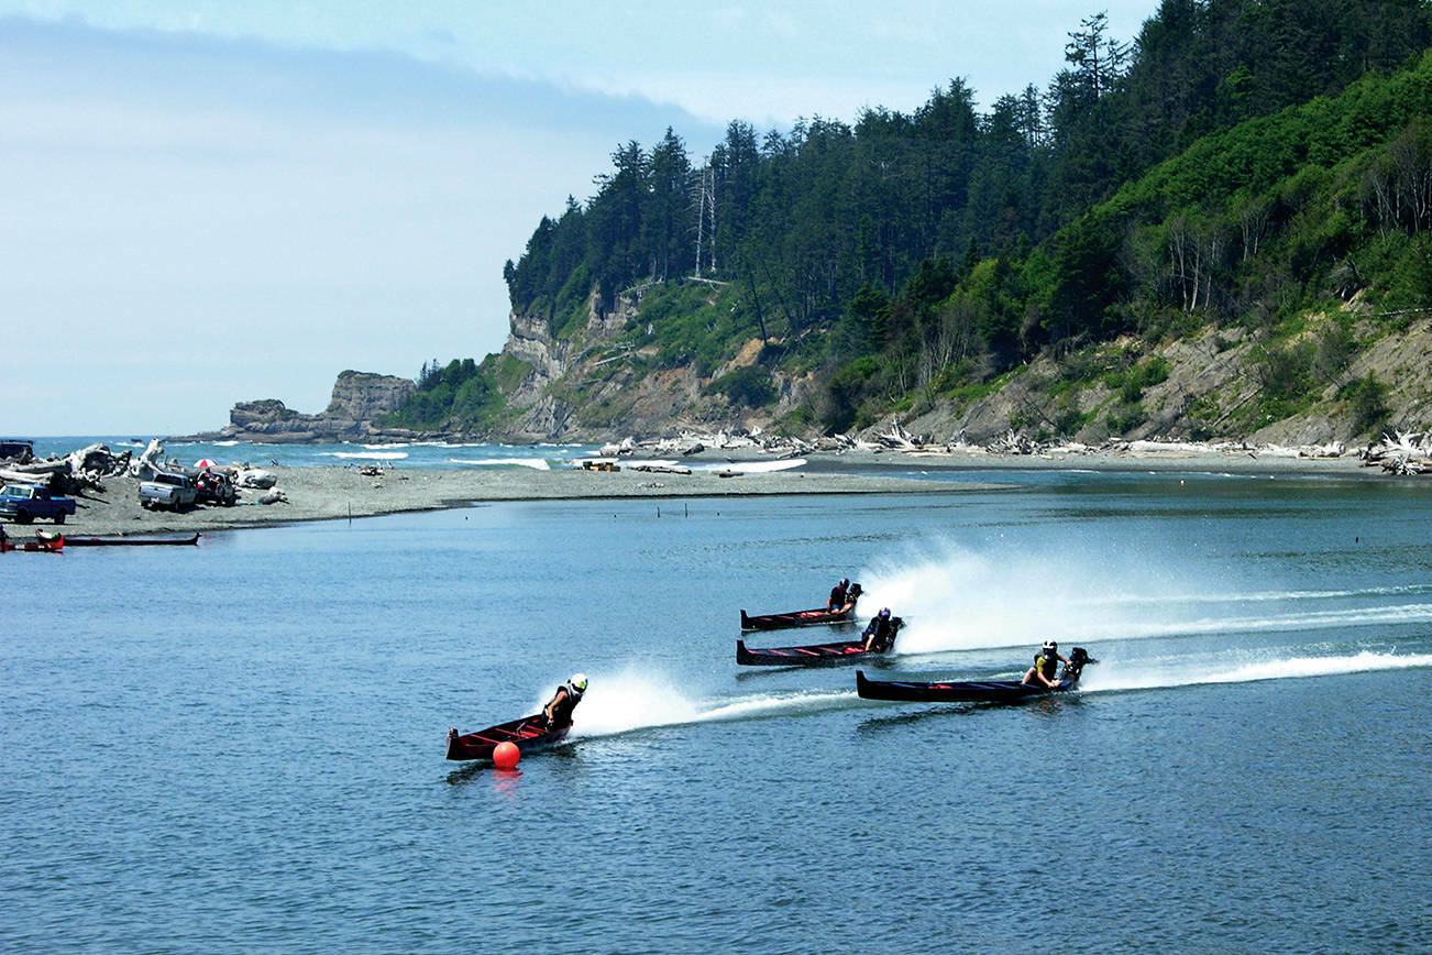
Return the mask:
<svg viewBox="0 0 1432 955">
<path fill-rule="evenodd" d="M 689 455 L 700 464 L 772 461 L 759 450 L 712 450 Z M 1194 450 L 1071 451 L 995 454 L 987 451 L 865 451 L 813 452 L 806 464 L 782 471 L 748 471 L 720 477 L 716 471 L 669 474 L 583 468 L 538 471 L 531 468 L 435 470 L 401 467 L 361 474 L 351 465 L 265 468 L 278 478 L 285 503 L 258 504 L 262 491 L 241 491 L 233 507 L 200 505 L 188 511 L 146 511 L 132 477 L 105 478 L 105 493 L 76 497 L 76 514 L 63 525 L 47 521 L 30 525 L 6 523 L 11 538 L 32 530 L 59 530 L 74 537 L 162 537 L 195 531 L 276 527 L 305 521 L 351 520 L 415 511 L 467 507 L 473 503 L 670 500 L 705 497 L 765 497 L 806 494 L 952 494 L 1001 487 L 998 472 L 1191 472 L 1227 475 L 1323 475 L 1355 480 L 1388 480 L 1379 468 L 1356 458 L 1300 458 Z M 988 481 L 932 481 L 911 474 L 991 472 Z"/>
</svg>

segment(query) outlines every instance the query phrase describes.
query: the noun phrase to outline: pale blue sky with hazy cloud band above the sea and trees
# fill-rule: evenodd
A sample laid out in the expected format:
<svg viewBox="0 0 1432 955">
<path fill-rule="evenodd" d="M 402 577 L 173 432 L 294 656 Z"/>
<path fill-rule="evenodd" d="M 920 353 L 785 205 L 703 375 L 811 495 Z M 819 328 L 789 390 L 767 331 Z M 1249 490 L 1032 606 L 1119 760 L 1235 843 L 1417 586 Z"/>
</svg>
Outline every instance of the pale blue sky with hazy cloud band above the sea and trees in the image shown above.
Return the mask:
<svg viewBox="0 0 1432 955">
<path fill-rule="evenodd" d="M 0 437 L 318 412 L 501 349 L 503 263 L 670 126 L 981 109 L 1157 0 L 0 0 Z"/>
</svg>

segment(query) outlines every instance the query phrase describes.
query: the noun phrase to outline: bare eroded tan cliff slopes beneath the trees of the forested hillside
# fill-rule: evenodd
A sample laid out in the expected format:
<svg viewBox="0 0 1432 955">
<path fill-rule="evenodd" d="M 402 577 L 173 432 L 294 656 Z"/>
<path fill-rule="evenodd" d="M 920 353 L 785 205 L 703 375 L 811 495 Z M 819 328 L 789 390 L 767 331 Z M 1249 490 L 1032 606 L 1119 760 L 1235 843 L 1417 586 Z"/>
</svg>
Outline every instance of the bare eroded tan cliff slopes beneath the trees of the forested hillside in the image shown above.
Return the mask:
<svg viewBox="0 0 1432 955">
<path fill-rule="evenodd" d="M 609 314 L 593 298 L 586 326 L 570 338 L 554 338 L 541 318 L 513 314 L 510 321 L 511 336 L 504 351 L 526 361 L 531 372 L 508 394 L 510 407 L 518 411 L 514 424 L 490 437 L 609 441 L 680 431 L 755 431 L 770 428 L 800 405 L 808 412 L 819 409 L 825 399 L 812 384 L 812 372 L 792 377 L 779 369 L 770 374 L 776 401 L 766 407 L 748 408 L 712 394 L 713 381 L 758 361 L 763 345 L 759 339 L 749 341 L 705 378 L 690 365 L 650 369 L 634 361 L 647 355 L 623 349 L 616 339 L 640 321 L 636 296 L 620 298 Z M 1425 375 L 1432 364 L 1432 321 L 1412 321 L 1388 334 L 1352 301 L 1339 315 L 1309 316 L 1306 336 L 1316 344 L 1336 322 L 1349 321 L 1359 346 L 1346 364 L 1322 372 L 1320 392 L 1302 409 L 1279 420 L 1256 414 L 1264 397 L 1267 349 L 1244 329 L 1211 325 L 1180 339 L 1110 342 L 1090 361 L 1111 374 L 1090 375 L 1070 359 L 1042 357 L 979 397 L 959 401 L 931 395 L 894 418 L 908 431 L 935 441 L 977 444 L 1011 430 L 1088 444 L 1107 438 L 1323 444 L 1376 440 L 1382 428 L 1425 428 L 1426 415 L 1432 414 L 1432 388 Z M 1150 364 L 1163 369 L 1150 384 L 1141 388 L 1114 384 L 1117 369 Z M 1348 398 L 1349 385 L 1369 377 L 1385 387 L 1388 407 L 1385 420 L 1370 427 Z M 1073 379 L 1078 384 L 1071 384 Z M 808 412 L 802 417 L 809 424 L 799 437 L 811 438 L 819 424 Z M 881 431 L 889 422 L 886 414 L 858 431 Z"/>
</svg>

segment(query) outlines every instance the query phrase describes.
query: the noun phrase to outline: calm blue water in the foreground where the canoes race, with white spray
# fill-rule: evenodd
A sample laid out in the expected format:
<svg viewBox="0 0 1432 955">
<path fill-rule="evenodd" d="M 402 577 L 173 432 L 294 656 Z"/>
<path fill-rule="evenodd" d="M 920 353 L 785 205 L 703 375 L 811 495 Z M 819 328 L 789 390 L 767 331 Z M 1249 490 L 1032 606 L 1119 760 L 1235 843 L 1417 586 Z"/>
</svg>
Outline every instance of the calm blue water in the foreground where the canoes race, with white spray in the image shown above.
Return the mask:
<svg viewBox="0 0 1432 955">
<path fill-rule="evenodd" d="M 0 557 L 0 951 L 1426 951 L 1432 484 L 979 477 Z M 1100 663 L 736 667 L 846 574 L 872 676 Z"/>
</svg>

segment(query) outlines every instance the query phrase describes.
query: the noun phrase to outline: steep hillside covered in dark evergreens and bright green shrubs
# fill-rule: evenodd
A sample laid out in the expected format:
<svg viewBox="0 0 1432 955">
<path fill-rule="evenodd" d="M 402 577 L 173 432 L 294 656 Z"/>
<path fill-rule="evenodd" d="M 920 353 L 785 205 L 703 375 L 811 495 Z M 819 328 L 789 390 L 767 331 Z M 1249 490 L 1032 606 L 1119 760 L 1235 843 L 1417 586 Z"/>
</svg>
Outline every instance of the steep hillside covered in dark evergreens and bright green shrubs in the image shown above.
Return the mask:
<svg viewBox="0 0 1432 955">
<path fill-rule="evenodd" d="M 1024 378 L 1005 424 L 1070 435 L 1327 401 L 1379 427 L 1403 392 L 1358 357 L 1432 304 L 1429 24 L 1418 0 L 1164 0 L 1130 43 L 1073 24 L 1068 67 L 987 113 L 955 79 L 911 115 L 733 122 L 700 159 L 626 143 L 507 263 L 504 354 L 424 368 L 392 424 L 843 431 Z M 1191 341 L 1253 392 L 1146 407 Z"/>
</svg>

